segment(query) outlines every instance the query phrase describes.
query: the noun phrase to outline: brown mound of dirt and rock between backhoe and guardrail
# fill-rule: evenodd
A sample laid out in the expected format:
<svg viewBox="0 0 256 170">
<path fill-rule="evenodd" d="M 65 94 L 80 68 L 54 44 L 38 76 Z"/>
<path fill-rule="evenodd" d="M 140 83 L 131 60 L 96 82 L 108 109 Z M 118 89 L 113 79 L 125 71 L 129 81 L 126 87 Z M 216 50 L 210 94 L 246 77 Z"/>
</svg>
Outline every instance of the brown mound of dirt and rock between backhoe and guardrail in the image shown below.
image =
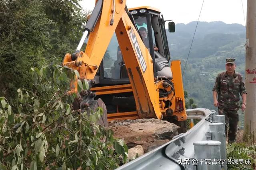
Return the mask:
<svg viewBox="0 0 256 170">
<path fill-rule="evenodd" d="M 109 122 L 109 127 L 114 137 L 123 139 L 128 148 L 142 145 L 145 153 L 170 141 L 180 128 L 159 119 L 115 120 Z"/>
</svg>

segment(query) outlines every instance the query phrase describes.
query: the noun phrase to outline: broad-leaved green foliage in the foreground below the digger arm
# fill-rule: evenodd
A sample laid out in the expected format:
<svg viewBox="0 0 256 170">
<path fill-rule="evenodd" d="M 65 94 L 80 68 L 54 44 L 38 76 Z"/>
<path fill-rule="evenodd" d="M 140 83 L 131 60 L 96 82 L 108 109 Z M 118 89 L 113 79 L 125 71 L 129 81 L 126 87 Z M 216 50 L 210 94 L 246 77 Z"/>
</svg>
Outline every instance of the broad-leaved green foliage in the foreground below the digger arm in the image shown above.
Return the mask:
<svg viewBox="0 0 256 170">
<path fill-rule="evenodd" d="M 58 65 L 32 67 L 32 88 L 16 91 L 17 111 L 0 98 L 0 169 L 114 169 L 126 162 L 124 141 L 97 124 L 102 108 L 71 110 L 74 75 Z M 88 82 L 78 87 L 87 90 Z"/>
</svg>

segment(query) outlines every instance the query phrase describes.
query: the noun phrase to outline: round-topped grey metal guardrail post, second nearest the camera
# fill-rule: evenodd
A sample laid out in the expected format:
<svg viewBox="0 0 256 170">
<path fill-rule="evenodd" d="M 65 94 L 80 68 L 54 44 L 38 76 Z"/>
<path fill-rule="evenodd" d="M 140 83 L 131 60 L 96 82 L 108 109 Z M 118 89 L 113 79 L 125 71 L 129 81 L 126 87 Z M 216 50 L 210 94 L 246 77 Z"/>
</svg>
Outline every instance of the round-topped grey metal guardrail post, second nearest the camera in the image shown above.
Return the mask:
<svg viewBox="0 0 256 170">
<path fill-rule="evenodd" d="M 210 133 L 211 133 L 211 138 L 214 141 L 220 141 L 221 146 L 220 146 L 220 156 L 222 159 L 226 159 L 226 137 L 225 137 L 225 126 L 223 123 L 212 123 L 209 125 L 210 127 Z M 223 164 L 222 168 L 224 170 L 227 170 L 227 165 Z"/>
</svg>

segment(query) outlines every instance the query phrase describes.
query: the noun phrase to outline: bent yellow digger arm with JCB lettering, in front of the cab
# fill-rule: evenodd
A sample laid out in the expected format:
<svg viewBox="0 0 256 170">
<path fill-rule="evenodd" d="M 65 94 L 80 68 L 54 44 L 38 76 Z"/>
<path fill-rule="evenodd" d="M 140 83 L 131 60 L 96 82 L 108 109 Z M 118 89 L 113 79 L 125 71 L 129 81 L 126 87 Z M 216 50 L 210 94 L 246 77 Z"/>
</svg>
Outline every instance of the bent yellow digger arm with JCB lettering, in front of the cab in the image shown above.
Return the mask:
<svg viewBox="0 0 256 170">
<path fill-rule="evenodd" d="M 79 79 L 89 80 L 90 87 L 93 86 L 93 79 L 115 32 L 132 86 L 139 118 L 162 119 L 163 114 L 170 109 L 172 109 L 171 113 L 180 112 L 177 111 L 178 104 L 174 97 L 173 84 L 154 77 L 154 61 L 137 31 L 134 20 L 126 7 L 126 0 L 97 0 L 87 25 L 76 53 L 66 54 L 63 65 L 78 70 Z M 79 51 L 87 35 L 89 38 L 85 52 Z M 73 82 L 71 88 L 72 92 L 77 92 L 77 82 Z M 159 89 L 167 90 L 166 98 L 160 98 Z M 89 91 L 83 94 L 83 102 L 88 102 L 90 101 L 88 98 L 92 99 L 92 96 L 95 96 L 89 94 Z M 184 98 L 184 95 L 181 97 Z M 166 101 L 169 102 L 166 103 Z M 184 105 L 184 101 L 181 101 Z M 183 118 L 186 119 L 186 117 Z"/>
</svg>

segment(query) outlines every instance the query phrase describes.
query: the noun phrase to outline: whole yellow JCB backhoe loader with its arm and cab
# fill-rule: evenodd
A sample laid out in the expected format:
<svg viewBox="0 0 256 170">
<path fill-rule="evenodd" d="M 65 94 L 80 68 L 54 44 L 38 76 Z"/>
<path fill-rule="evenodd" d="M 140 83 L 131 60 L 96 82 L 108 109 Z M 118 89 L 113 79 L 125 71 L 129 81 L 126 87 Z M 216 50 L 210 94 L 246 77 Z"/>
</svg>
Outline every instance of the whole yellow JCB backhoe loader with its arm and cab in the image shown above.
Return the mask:
<svg viewBox="0 0 256 170">
<path fill-rule="evenodd" d="M 74 107 L 102 107 L 105 126 L 106 120 L 157 118 L 185 131 L 181 66 L 170 61 L 165 22 L 156 8 L 128 10 L 126 0 L 96 0 L 76 52 L 63 61 L 89 83 Z M 168 30 L 175 31 L 174 22 Z M 77 82 L 71 88 L 77 92 Z"/>
</svg>

